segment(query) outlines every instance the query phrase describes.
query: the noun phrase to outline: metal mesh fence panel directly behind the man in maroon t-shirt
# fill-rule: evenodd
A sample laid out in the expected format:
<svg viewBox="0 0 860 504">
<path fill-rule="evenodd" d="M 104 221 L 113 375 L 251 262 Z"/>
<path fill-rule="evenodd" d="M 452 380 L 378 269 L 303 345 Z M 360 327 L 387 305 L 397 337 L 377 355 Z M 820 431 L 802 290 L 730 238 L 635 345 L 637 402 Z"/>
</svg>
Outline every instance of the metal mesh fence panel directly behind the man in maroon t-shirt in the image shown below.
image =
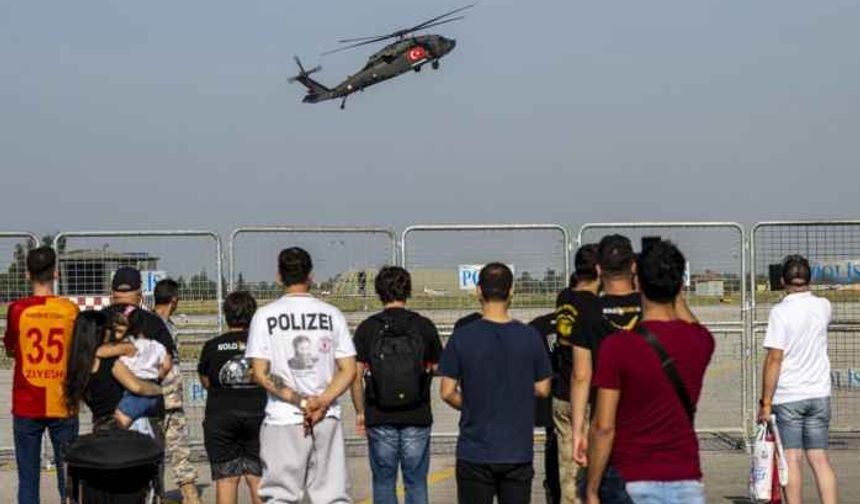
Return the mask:
<svg viewBox="0 0 860 504">
<path fill-rule="evenodd" d="M 687 300 L 716 340 L 705 375 L 696 426 L 700 431 L 743 433 L 751 422 L 746 334 L 746 236 L 733 222 L 645 222 L 584 225 L 577 244 L 618 233 L 641 249 L 643 238 L 671 240 L 689 263 Z"/>
</svg>

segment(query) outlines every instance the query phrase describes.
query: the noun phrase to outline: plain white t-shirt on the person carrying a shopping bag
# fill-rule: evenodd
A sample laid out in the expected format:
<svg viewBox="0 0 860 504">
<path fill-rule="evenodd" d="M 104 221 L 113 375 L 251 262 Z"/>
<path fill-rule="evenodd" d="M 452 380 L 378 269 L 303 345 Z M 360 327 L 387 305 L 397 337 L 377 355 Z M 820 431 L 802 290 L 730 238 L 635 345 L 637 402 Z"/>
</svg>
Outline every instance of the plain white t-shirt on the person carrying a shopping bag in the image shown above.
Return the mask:
<svg viewBox="0 0 860 504">
<path fill-rule="evenodd" d="M 830 316 L 830 301 L 811 292 L 789 294 L 771 309 L 764 347 L 783 351 L 774 404 L 830 397 Z"/>
</svg>

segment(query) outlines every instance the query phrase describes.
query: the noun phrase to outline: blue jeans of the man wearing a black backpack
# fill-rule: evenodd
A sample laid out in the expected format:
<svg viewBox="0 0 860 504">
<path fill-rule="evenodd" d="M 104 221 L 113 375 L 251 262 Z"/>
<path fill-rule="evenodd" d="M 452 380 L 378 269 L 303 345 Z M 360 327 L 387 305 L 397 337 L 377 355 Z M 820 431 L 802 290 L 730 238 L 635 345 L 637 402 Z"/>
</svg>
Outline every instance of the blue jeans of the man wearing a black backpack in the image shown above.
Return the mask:
<svg viewBox="0 0 860 504">
<path fill-rule="evenodd" d="M 397 469 L 403 470 L 406 504 L 427 504 L 430 427 L 369 427 L 373 504 L 397 504 Z"/>
</svg>

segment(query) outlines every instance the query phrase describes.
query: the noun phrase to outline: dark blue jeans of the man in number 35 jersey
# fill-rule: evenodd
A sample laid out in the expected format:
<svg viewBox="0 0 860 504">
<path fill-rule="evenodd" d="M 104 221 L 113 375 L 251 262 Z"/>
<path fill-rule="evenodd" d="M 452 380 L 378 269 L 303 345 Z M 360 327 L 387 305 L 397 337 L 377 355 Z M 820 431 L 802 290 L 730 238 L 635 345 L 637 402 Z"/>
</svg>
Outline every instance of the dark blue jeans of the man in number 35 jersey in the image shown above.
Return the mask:
<svg viewBox="0 0 860 504">
<path fill-rule="evenodd" d="M 66 496 L 63 450 L 78 437 L 78 418 L 25 418 L 13 420 L 15 461 L 18 463 L 18 504 L 39 504 L 39 462 L 42 459 L 42 435 L 48 430 L 57 466 L 57 488 L 60 500 Z"/>
</svg>

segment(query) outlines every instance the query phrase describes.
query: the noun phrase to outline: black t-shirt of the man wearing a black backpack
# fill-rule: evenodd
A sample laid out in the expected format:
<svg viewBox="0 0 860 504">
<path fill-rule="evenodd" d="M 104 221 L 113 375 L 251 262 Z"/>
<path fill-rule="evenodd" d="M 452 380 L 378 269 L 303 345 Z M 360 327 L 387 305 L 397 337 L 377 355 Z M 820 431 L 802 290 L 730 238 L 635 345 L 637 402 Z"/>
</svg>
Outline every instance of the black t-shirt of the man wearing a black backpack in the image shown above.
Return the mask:
<svg viewBox="0 0 860 504">
<path fill-rule="evenodd" d="M 425 363 L 436 364 L 439 362 L 439 356 L 442 354 L 442 341 L 439 339 L 439 332 L 436 330 L 436 326 L 433 325 L 430 319 L 404 308 L 387 308 L 382 313 L 373 315 L 359 324 L 355 330 L 354 337 L 356 360 L 358 362 L 365 365 L 370 362 L 373 340 L 379 335 L 383 327 L 381 316 L 390 317 L 394 327 L 398 327 L 399 324 L 415 324 L 414 330 L 424 336 Z M 405 331 L 397 332 L 405 333 Z M 427 396 L 429 397 L 429 394 Z M 430 401 L 428 400 L 419 407 L 411 410 L 383 411 L 372 404 L 368 404 L 365 394 L 364 424 L 367 427 L 378 425 L 432 425 L 433 413 L 430 410 Z"/>
</svg>

